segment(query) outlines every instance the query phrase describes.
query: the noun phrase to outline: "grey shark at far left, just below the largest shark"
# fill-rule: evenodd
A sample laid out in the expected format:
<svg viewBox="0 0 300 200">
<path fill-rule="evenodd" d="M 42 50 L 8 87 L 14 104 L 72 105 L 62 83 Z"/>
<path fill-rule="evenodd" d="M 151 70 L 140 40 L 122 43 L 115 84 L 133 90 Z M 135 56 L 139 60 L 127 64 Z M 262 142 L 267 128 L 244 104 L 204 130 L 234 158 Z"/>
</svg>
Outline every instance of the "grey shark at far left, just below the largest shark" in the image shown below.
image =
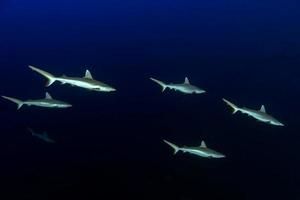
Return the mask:
<svg viewBox="0 0 300 200">
<path fill-rule="evenodd" d="M 27 101 L 21 101 L 16 98 L 2 96 L 4 99 L 7 99 L 9 101 L 12 101 L 18 105 L 18 110 L 23 105 L 28 106 L 39 106 L 39 107 L 46 107 L 46 108 L 68 108 L 72 105 L 63 101 L 55 100 L 53 99 L 48 92 L 46 92 L 46 97 L 44 99 L 37 99 L 37 100 L 27 100 Z"/>
</svg>

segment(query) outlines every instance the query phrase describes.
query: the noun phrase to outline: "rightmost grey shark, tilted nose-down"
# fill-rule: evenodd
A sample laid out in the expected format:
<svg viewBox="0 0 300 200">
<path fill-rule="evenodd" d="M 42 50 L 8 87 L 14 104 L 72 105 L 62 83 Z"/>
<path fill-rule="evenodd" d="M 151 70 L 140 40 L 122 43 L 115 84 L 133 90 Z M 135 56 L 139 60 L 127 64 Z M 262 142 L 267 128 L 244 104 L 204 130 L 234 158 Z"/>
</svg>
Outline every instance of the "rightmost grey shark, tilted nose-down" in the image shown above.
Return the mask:
<svg viewBox="0 0 300 200">
<path fill-rule="evenodd" d="M 261 106 L 260 110 L 253 110 L 253 109 L 245 108 L 245 107 L 240 108 L 224 98 L 223 98 L 223 101 L 233 109 L 232 114 L 235 114 L 236 112 L 240 111 L 241 113 L 247 114 L 248 116 L 251 116 L 251 117 L 257 119 L 258 121 L 272 124 L 275 126 L 284 126 L 283 123 L 279 122 L 277 119 L 275 119 L 271 115 L 267 114 L 266 108 L 264 105 Z"/>
</svg>

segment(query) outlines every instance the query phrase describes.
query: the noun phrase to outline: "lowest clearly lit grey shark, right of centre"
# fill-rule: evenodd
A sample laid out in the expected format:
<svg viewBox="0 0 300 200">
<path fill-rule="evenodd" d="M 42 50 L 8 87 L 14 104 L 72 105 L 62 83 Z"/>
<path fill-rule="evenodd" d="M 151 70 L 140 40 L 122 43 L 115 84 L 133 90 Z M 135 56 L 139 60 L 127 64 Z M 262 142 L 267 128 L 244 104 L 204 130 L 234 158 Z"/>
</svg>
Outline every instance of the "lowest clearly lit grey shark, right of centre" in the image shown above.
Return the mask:
<svg viewBox="0 0 300 200">
<path fill-rule="evenodd" d="M 168 142 L 167 140 L 163 140 L 163 141 L 174 149 L 174 155 L 178 151 L 182 151 L 183 153 L 191 153 L 205 158 L 225 158 L 224 154 L 221 154 L 215 150 L 207 148 L 204 141 L 202 141 L 201 145 L 198 147 L 187 147 L 187 146 L 178 147 L 177 145 Z"/>
</svg>

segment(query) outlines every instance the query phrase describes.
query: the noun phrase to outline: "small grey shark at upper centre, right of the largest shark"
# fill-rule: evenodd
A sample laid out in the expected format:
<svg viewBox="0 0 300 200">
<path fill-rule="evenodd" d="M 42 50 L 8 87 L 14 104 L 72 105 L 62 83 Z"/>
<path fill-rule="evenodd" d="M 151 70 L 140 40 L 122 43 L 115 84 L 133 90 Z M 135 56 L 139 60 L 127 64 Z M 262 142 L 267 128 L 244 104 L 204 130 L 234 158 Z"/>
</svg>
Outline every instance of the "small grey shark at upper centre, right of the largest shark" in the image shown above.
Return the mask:
<svg viewBox="0 0 300 200">
<path fill-rule="evenodd" d="M 183 83 L 179 83 L 179 84 L 166 84 L 160 80 L 157 80 L 155 78 L 150 78 L 150 80 L 156 82 L 157 84 L 159 84 L 162 87 L 162 92 L 164 92 L 167 88 L 169 89 L 173 89 L 175 91 L 179 91 L 185 94 L 201 94 L 201 93 L 205 93 L 205 90 L 202 90 L 194 85 L 190 84 L 190 81 L 187 77 L 185 77 L 184 82 Z"/>
</svg>

